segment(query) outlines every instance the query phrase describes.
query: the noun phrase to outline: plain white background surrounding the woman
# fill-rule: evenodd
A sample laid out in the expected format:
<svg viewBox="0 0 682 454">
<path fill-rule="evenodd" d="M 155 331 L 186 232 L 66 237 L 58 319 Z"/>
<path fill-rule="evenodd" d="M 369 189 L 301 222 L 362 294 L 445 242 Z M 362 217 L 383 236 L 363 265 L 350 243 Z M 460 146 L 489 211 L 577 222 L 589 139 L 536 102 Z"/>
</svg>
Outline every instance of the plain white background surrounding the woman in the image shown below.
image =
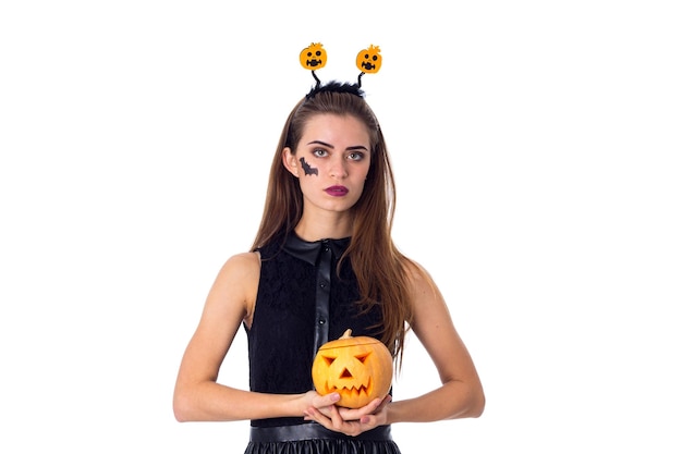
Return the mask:
<svg viewBox="0 0 682 454">
<path fill-rule="evenodd" d="M 405 454 L 680 453 L 682 15 L 674 1 L 5 1 L 0 451 L 240 453 L 171 395 L 313 84 L 363 77 L 394 237 L 479 369 L 479 419 Z M 411 338 L 402 398 L 437 385 Z M 244 332 L 220 380 L 246 386 Z"/>
</svg>

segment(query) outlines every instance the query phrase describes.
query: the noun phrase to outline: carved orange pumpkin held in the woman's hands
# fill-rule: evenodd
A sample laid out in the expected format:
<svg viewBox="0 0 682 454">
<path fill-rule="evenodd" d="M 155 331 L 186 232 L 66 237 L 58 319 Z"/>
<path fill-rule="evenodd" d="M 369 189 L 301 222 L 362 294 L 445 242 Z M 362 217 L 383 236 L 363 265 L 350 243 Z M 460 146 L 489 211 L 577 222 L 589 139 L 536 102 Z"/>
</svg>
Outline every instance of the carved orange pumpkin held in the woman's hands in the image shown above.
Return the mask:
<svg viewBox="0 0 682 454">
<path fill-rule="evenodd" d="M 338 406 L 360 408 L 383 398 L 393 379 L 393 358 L 380 341 L 369 336 L 341 338 L 319 347 L 313 361 L 313 383 L 318 393 L 338 392 Z"/>
</svg>

